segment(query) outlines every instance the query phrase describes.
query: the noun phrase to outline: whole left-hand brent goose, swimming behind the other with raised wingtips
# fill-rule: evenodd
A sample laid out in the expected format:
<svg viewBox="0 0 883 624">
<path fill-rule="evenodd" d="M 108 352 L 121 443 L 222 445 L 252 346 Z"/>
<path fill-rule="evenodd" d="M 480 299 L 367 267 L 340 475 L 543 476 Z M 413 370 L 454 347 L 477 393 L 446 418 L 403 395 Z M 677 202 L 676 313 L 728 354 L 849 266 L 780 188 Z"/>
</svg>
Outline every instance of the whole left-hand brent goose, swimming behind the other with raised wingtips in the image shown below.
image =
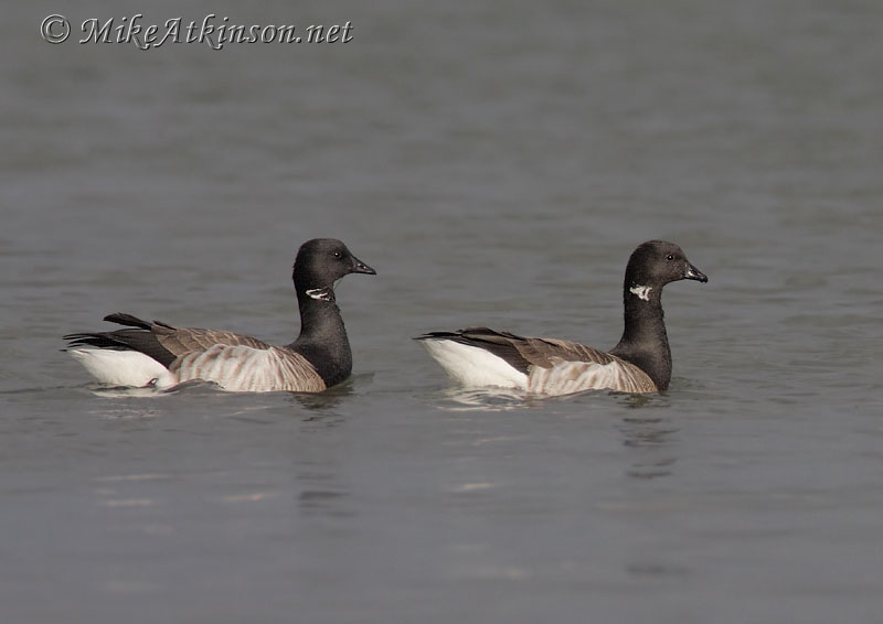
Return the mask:
<svg viewBox="0 0 883 624">
<path fill-rule="evenodd" d="M 114 386 L 167 389 L 203 379 L 232 391 L 319 392 L 343 381 L 352 370 L 350 343 L 333 290 L 334 282 L 349 273 L 376 275 L 340 240 L 316 238 L 301 245 L 292 275 L 300 335 L 286 346 L 116 313 L 104 320 L 129 329 L 68 334 L 65 351 L 99 381 Z"/>
</svg>

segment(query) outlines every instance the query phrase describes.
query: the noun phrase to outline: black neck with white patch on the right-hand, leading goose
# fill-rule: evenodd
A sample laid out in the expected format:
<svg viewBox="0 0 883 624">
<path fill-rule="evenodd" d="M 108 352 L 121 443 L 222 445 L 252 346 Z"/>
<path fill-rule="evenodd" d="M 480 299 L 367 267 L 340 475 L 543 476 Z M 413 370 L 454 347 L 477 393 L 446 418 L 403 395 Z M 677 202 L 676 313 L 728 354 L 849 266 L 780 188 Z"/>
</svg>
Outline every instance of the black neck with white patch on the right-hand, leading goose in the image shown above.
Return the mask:
<svg viewBox="0 0 883 624">
<path fill-rule="evenodd" d="M 626 280 L 623 288 L 625 329 L 610 353 L 636 365 L 647 373 L 658 389 L 664 390 L 671 380 L 671 349 L 661 294 L 661 287 L 640 290 Z"/>
</svg>

